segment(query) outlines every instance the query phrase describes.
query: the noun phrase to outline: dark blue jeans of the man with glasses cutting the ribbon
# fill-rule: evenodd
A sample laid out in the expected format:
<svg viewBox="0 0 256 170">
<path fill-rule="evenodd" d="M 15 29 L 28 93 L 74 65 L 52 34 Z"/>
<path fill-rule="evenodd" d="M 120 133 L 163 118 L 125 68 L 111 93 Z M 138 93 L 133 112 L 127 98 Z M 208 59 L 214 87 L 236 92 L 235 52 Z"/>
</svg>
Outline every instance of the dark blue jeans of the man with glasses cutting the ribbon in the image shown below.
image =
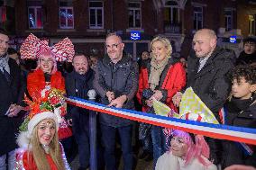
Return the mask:
<svg viewBox="0 0 256 170">
<path fill-rule="evenodd" d="M 101 124 L 102 141 L 105 148 L 105 167 L 106 170 L 116 170 L 115 165 L 115 134 L 118 131 L 121 139 L 121 147 L 123 152 L 123 170 L 132 170 L 133 168 L 133 148 L 132 133 L 133 125 L 114 128 Z"/>
</svg>

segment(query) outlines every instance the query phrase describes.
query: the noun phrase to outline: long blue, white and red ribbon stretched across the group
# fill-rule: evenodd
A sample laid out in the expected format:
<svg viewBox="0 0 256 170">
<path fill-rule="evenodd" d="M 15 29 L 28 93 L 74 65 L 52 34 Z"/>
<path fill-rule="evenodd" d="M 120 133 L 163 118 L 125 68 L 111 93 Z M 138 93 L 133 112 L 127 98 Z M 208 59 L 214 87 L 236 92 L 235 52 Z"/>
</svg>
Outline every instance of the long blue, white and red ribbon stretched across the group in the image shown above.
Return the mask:
<svg viewBox="0 0 256 170">
<path fill-rule="evenodd" d="M 256 129 L 233 127 L 199 121 L 186 121 L 145 112 L 107 107 L 104 104 L 94 103 L 77 97 L 69 97 L 67 99 L 67 103 L 95 112 L 103 112 L 133 121 L 141 121 L 170 129 L 184 130 L 215 139 L 227 139 L 256 145 Z"/>
</svg>

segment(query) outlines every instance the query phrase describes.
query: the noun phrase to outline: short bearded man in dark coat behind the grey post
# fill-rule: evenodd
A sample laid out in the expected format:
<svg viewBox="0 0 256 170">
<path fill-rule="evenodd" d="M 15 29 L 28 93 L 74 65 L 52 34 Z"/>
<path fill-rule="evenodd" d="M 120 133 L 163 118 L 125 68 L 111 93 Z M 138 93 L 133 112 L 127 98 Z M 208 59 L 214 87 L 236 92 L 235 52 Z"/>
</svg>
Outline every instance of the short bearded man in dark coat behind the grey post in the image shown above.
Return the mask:
<svg viewBox="0 0 256 170">
<path fill-rule="evenodd" d="M 93 89 L 94 72 L 88 66 L 88 58 L 84 54 L 77 54 L 72 61 L 74 67 L 66 76 L 66 91 L 68 96 L 87 99 L 87 92 Z M 78 143 L 79 169 L 86 170 L 89 166 L 89 130 L 88 111 L 69 105 L 69 124 Z M 70 119 L 71 118 L 71 119 Z"/>
</svg>

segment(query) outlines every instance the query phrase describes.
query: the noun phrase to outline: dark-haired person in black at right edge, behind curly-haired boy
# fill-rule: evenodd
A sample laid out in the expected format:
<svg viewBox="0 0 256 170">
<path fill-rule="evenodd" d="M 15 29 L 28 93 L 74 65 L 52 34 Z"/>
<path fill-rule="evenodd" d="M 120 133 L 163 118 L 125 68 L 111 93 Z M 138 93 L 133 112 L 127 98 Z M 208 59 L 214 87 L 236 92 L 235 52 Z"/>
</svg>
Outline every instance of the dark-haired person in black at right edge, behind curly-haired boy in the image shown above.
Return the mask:
<svg viewBox="0 0 256 170">
<path fill-rule="evenodd" d="M 236 61 L 237 65 L 249 64 L 256 66 L 256 40 L 249 37 L 243 40 L 243 51 Z"/>
</svg>

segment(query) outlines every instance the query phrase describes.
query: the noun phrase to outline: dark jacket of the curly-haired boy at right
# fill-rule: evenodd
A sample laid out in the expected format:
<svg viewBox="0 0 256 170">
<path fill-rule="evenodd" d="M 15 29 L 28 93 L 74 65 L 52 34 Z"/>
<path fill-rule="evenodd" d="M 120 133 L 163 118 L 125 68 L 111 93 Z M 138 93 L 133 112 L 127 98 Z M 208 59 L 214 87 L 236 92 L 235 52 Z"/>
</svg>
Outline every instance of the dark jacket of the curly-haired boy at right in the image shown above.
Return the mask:
<svg viewBox="0 0 256 170">
<path fill-rule="evenodd" d="M 240 100 L 232 98 L 231 101 L 225 103 L 226 124 L 233 126 L 241 126 L 245 128 L 256 128 L 256 94 L 248 100 Z M 256 148 L 252 156 L 246 156 L 237 142 L 223 141 L 223 166 L 232 166 L 241 164 L 256 167 Z M 232 154 L 230 154 L 232 153 Z"/>
</svg>

